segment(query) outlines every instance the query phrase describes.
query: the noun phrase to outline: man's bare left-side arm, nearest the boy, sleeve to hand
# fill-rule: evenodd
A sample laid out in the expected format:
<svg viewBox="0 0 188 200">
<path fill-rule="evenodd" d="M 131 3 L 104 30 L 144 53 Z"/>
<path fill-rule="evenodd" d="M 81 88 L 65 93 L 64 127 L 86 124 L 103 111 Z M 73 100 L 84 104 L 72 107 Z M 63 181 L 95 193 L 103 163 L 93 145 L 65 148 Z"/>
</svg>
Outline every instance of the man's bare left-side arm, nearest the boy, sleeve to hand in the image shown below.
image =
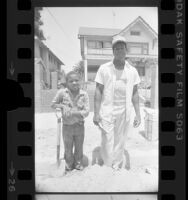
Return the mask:
<svg viewBox="0 0 188 200">
<path fill-rule="evenodd" d="M 101 107 L 101 101 L 102 101 L 102 95 L 103 95 L 104 85 L 100 83 L 96 83 L 96 89 L 95 89 L 95 95 L 94 95 L 94 117 L 93 122 L 95 125 L 98 125 L 100 122 L 100 107 Z"/>
</svg>

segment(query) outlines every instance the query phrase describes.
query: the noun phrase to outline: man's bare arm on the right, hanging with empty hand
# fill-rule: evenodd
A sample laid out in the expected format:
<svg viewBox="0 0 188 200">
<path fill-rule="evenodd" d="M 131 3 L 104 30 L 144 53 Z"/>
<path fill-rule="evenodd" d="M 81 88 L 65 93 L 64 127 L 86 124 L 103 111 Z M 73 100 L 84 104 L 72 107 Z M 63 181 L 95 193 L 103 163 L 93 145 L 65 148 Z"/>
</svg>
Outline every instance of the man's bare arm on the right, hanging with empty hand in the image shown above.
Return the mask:
<svg viewBox="0 0 188 200">
<path fill-rule="evenodd" d="M 134 119 L 134 127 L 136 128 L 141 123 L 140 106 L 139 106 L 139 95 L 138 95 L 138 85 L 134 85 L 132 103 L 133 103 L 134 110 L 135 110 L 135 113 L 136 113 L 136 117 Z"/>
</svg>

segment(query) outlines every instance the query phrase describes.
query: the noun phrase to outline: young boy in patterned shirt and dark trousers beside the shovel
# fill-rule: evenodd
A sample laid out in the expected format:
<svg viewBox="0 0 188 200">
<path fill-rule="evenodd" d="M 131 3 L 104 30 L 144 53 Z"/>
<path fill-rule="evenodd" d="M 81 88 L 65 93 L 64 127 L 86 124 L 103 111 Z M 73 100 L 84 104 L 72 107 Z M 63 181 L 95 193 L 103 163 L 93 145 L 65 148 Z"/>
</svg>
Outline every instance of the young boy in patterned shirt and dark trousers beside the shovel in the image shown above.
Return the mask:
<svg viewBox="0 0 188 200">
<path fill-rule="evenodd" d="M 62 110 L 65 171 L 82 170 L 84 118 L 89 115 L 89 97 L 80 89 L 79 74 L 71 71 L 66 75 L 66 88 L 57 92 L 52 108 Z"/>
</svg>

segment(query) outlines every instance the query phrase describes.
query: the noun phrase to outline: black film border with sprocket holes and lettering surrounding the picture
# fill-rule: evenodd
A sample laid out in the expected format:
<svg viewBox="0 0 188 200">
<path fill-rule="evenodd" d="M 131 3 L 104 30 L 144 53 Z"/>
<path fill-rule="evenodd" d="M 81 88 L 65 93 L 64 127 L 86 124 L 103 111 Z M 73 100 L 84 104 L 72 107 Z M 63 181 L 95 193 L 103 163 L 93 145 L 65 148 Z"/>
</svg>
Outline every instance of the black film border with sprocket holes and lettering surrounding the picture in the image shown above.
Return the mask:
<svg viewBox="0 0 188 200">
<path fill-rule="evenodd" d="M 159 200 L 185 199 L 185 0 L 7 0 L 7 199 L 35 197 L 34 7 L 158 6 Z M 11 98 L 11 100 L 10 100 Z M 13 102 L 13 101 L 14 102 Z"/>
</svg>

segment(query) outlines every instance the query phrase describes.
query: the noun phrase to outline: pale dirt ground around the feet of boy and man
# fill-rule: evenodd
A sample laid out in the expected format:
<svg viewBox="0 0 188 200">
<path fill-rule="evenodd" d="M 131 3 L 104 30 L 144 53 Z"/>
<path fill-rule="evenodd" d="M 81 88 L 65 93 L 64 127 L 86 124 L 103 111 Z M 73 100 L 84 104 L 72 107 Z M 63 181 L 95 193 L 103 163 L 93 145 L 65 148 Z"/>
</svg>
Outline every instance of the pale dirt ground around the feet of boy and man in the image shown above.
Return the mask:
<svg viewBox="0 0 188 200">
<path fill-rule="evenodd" d="M 130 169 L 115 171 L 95 163 L 101 134 L 93 122 L 93 113 L 85 121 L 83 171 L 73 170 L 64 175 L 63 144 L 61 164 L 56 164 L 57 119 L 54 113 L 35 114 L 35 185 L 37 192 L 157 192 L 158 140 L 148 141 L 140 132 L 142 124 L 130 128 L 126 150 L 130 155 Z M 132 116 L 132 121 L 134 112 Z"/>
</svg>

